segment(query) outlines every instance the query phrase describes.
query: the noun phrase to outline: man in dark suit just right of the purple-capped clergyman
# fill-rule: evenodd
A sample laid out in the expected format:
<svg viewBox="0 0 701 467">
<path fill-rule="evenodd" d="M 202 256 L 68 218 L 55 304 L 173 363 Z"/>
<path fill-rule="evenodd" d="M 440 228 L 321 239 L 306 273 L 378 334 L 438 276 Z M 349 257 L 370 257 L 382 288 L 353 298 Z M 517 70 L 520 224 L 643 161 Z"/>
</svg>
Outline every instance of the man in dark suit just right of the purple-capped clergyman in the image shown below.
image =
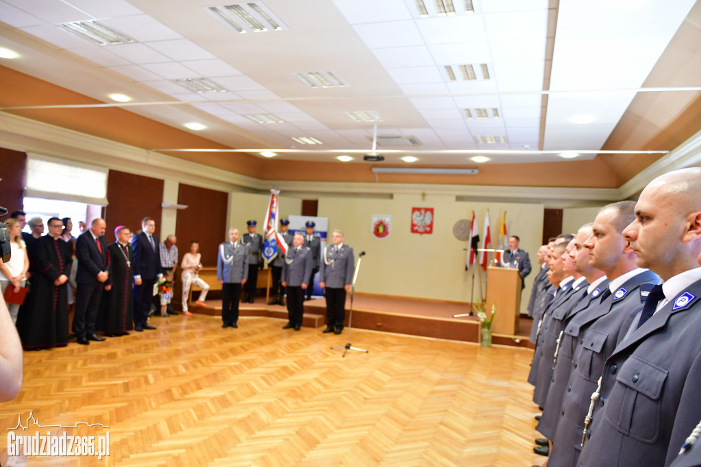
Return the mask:
<svg viewBox="0 0 701 467">
<path fill-rule="evenodd" d="M 149 310 L 154 297 L 154 284 L 161 270 L 161 254 L 158 250 L 156 221 L 144 217 L 142 232 L 132 238 L 134 250 L 134 330 L 156 329 L 149 325 Z"/>
</svg>

